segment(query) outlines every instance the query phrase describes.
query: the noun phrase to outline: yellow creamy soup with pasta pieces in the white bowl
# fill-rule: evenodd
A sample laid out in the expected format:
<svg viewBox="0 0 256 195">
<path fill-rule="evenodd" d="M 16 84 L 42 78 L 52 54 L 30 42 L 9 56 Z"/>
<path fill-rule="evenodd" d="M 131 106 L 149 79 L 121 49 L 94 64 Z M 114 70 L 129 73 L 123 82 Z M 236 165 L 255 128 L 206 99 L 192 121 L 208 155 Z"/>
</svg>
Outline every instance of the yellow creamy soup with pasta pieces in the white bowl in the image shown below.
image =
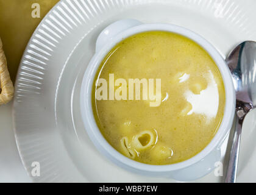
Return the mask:
<svg viewBox="0 0 256 195">
<path fill-rule="evenodd" d="M 93 112 L 102 135 L 141 163 L 168 165 L 193 157 L 210 143 L 224 115 L 218 66 L 199 44 L 171 32 L 124 39 L 102 61 L 94 83 Z"/>
</svg>

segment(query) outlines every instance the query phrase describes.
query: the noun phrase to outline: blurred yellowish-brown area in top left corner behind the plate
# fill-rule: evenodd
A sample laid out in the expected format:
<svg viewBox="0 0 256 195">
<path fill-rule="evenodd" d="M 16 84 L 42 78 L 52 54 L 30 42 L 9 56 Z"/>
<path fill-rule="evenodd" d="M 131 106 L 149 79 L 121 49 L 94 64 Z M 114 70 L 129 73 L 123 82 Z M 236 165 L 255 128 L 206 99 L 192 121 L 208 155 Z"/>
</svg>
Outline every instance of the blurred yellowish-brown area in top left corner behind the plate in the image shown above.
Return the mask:
<svg viewBox="0 0 256 195">
<path fill-rule="evenodd" d="M 0 0 L 0 37 L 10 77 L 15 77 L 29 38 L 44 15 L 59 0 Z M 33 4 L 40 5 L 40 18 L 32 17 Z"/>
</svg>

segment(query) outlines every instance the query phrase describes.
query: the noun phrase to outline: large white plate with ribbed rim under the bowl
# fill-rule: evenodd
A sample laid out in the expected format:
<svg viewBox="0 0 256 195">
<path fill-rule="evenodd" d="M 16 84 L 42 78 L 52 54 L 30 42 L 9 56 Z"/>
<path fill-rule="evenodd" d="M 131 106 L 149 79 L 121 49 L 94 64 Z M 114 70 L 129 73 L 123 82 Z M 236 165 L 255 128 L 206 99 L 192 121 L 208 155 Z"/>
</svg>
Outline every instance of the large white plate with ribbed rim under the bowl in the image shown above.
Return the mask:
<svg viewBox="0 0 256 195">
<path fill-rule="evenodd" d="M 35 182 L 175 182 L 124 171 L 89 140 L 79 94 L 96 38 L 105 26 L 122 18 L 171 23 L 202 35 L 225 57 L 235 44 L 256 40 L 255 6 L 254 0 L 60 1 L 32 35 L 16 79 L 16 142 L 30 175 L 32 162 L 40 163 Z M 256 112 L 247 117 L 243 129 L 239 182 L 256 181 L 255 118 Z M 224 144 L 222 155 L 225 148 Z M 221 180 L 212 172 L 197 182 Z"/>
</svg>

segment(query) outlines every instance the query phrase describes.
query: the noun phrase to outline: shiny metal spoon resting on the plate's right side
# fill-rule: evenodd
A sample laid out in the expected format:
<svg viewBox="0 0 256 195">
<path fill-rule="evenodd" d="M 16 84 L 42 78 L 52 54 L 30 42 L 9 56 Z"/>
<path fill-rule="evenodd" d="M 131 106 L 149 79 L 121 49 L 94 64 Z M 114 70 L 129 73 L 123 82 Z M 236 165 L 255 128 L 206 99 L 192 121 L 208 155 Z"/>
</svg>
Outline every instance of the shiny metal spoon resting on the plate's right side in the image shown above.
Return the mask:
<svg viewBox="0 0 256 195">
<path fill-rule="evenodd" d="M 225 182 L 234 183 L 244 117 L 256 107 L 256 42 L 244 41 L 239 44 L 227 56 L 226 62 L 236 91 L 236 123 Z"/>
</svg>

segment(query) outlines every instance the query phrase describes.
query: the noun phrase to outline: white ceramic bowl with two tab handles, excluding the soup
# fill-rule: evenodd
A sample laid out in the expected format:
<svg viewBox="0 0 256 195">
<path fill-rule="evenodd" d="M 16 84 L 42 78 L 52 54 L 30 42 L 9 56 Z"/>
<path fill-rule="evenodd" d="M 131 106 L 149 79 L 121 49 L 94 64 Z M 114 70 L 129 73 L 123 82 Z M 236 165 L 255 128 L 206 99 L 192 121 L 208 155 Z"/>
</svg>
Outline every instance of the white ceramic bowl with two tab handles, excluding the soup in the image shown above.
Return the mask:
<svg viewBox="0 0 256 195">
<path fill-rule="evenodd" d="M 108 52 L 124 38 L 151 30 L 174 32 L 188 37 L 201 45 L 202 48 L 211 55 L 216 65 L 218 65 L 225 86 L 226 106 L 221 125 L 219 126 L 219 130 L 215 137 L 201 152 L 199 152 L 199 154 L 188 160 L 172 165 L 147 165 L 131 160 L 120 154 L 116 149 L 110 146 L 102 136 L 94 119 L 93 108 L 91 105 L 94 77 L 96 76 L 96 72 L 105 55 L 107 55 Z M 142 24 L 135 19 L 123 19 L 108 26 L 98 37 L 96 42 L 96 54 L 94 54 L 84 74 L 80 93 L 80 109 L 85 129 L 87 130 L 91 141 L 93 141 L 94 145 L 102 152 L 102 154 L 114 163 L 129 171 L 135 171 L 141 174 L 167 176 L 176 180 L 187 181 L 208 174 L 208 172 L 212 171 L 215 167 L 215 162 L 220 160 L 219 146 L 232 127 L 233 115 L 235 112 L 235 91 L 233 89 L 232 78 L 226 62 L 222 59 L 221 55 L 216 51 L 212 44 L 208 43 L 208 41 L 200 35 L 195 34 L 191 30 L 172 24 Z"/>
</svg>

